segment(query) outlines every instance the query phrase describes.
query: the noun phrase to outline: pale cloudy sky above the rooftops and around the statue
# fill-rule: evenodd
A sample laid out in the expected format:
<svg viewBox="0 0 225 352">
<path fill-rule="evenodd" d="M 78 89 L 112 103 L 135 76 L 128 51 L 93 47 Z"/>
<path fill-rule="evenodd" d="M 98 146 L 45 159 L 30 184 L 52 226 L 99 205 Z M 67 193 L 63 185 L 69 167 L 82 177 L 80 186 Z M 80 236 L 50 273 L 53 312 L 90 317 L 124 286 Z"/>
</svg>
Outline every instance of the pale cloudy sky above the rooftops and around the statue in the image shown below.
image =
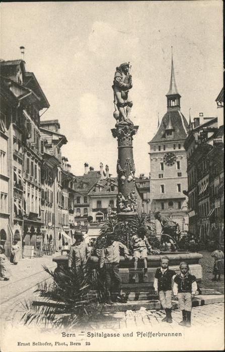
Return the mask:
<svg viewBox="0 0 225 352">
<path fill-rule="evenodd" d="M 136 177 L 150 171 L 149 145 L 167 111 L 171 46 L 181 111 L 218 116 L 223 84 L 222 1 L 2 3 L 1 58 L 21 58 L 34 72 L 68 143 L 62 154 L 76 175 L 100 162 L 116 176 L 117 141 L 112 82 L 116 66 L 130 61 L 131 120 Z"/>
</svg>

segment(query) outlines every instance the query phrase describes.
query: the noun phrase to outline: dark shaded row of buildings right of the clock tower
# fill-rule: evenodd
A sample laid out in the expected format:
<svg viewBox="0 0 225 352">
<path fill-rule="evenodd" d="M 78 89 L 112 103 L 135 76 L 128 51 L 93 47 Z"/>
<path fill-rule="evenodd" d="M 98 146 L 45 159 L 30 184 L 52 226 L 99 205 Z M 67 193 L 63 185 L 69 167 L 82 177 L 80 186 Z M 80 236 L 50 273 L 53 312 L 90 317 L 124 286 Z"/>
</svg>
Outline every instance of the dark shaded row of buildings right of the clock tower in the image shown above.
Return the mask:
<svg viewBox="0 0 225 352">
<path fill-rule="evenodd" d="M 188 155 L 189 230 L 203 242 L 222 237 L 223 126 L 217 128 L 216 117 L 200 114 L 191 123 L 184 146 Z"/>
</svg>

